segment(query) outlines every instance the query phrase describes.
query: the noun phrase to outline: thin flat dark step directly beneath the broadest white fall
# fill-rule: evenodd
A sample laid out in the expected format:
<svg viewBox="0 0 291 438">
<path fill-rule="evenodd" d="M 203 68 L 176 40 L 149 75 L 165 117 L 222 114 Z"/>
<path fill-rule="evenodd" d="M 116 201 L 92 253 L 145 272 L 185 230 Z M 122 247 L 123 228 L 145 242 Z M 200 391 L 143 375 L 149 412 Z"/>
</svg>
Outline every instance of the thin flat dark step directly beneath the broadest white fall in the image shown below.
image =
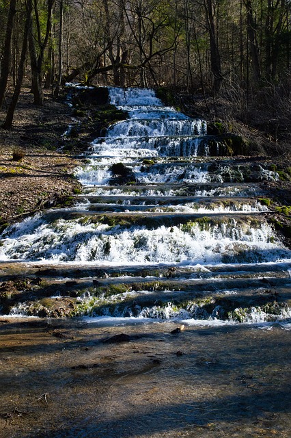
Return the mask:
<svg viewBox="0 0 291 438">
<path fill-rule="evenodd" d="M 277 277 L 291 279 L 290 263 L 235 263 L 217 265 L 194 265 L 194 266 L 175 266 L 164 264 L 146 266 L 96 266 L 85 263 L 66 263 L 62 264 L 40 263 L 31 264 L 27 262 L 1 262 L 0 276 L 3 281 L 21 278 L 22 276 L 34 279 L 38 277 L 49 281 L 49 279 L 119 279 L 120 277 L 135 278 L 153 277 L 155 279 L 208 279 L 209 277 L 221 276 L 239 278 L 241 276 L 256 276 L 258 278 Z M 118 280 L 117 280 L 118 281 Z M 291 280 L 290 280 L 291 281 Z"/>
</svg>

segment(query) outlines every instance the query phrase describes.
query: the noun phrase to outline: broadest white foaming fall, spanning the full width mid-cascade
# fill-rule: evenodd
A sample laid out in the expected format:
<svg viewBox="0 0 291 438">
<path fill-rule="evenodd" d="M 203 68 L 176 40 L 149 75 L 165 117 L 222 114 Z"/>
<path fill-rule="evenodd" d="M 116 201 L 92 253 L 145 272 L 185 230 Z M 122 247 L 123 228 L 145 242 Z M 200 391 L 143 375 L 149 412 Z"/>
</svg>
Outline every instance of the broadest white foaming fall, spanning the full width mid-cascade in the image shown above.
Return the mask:
<svg viewBox="0 0 291 438">
<path fill-rule="evenodd" d="M 105 264 L 219 263 L 290 259 L 291 252 L 273 238 L 267 224 L 229 220 L 203 229 L 198 223 L 146 229 L 111 227 L 89 218 L 52 223 L 38 221 L 12 228 L 2 241 L 0 260 L 96 261 Z"/>
</svg>

